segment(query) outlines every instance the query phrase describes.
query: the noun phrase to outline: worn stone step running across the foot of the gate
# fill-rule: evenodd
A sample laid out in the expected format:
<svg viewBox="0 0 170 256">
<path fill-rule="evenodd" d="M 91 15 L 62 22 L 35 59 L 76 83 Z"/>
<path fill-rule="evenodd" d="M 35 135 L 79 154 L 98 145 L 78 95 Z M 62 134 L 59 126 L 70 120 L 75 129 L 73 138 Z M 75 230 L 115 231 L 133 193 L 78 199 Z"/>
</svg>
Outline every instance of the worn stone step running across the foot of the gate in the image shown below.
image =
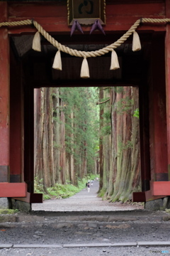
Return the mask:
<svg viewBox="0 0 170 256">
<path fill-rule="evenodd" d="M 1 214 L 0 223 L 127 223 L 170 221 L 164 211 L 132 210 L 109 212 L 46 212 Z"/>
</svg>

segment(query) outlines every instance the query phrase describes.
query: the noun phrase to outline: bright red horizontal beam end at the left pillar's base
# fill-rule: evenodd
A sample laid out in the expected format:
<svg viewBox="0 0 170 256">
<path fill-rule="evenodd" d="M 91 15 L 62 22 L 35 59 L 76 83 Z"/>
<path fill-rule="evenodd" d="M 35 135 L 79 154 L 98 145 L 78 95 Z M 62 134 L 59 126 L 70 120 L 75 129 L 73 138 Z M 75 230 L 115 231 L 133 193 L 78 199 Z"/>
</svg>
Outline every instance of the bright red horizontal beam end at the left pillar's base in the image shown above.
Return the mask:
<svg viewBox="0 0 170 256">
<path fill-rule="evenodd" d="M 0 197 L 26 197 L 26 183 L 0 183 Z"/>
</svg>

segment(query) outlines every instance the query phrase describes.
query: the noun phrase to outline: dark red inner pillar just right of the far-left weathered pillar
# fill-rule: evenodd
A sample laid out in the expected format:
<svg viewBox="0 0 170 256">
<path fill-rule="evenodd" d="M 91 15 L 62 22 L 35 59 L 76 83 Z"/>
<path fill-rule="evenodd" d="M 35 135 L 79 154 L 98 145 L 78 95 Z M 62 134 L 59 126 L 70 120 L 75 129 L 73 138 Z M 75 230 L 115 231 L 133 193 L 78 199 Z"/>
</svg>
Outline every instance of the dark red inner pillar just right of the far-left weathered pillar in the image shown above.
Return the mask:
<svg viewBox="0 0 170 256">
<path fill-rule="evenodd" d="M 23 100 L 21 61 L 10 50 L 10 182 L 23 181 Z"/>
</svg>

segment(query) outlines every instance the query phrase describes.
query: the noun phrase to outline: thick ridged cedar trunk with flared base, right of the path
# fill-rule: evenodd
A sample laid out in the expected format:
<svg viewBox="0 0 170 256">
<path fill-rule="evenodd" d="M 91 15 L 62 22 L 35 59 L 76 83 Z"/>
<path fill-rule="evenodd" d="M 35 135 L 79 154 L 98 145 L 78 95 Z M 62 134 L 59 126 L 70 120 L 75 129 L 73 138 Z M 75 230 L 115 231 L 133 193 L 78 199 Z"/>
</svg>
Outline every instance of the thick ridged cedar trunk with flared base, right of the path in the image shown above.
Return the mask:
<svg viewBox="0 0 170 256">
<path fill-rule="evenodd" d="M 138 90 L 135 87 L 120 89 L 111 90 L 111 141 L 109 135 L 105 135 L 103 154 L 100 149 L 103 157 L 101 196 L 125 202 L 131 199 L 132 191 L 140 189 L 139 120 L 133 117 L 138 107 Z M 104 113 L 107 109 L 105 105 Z"/>
</svg>

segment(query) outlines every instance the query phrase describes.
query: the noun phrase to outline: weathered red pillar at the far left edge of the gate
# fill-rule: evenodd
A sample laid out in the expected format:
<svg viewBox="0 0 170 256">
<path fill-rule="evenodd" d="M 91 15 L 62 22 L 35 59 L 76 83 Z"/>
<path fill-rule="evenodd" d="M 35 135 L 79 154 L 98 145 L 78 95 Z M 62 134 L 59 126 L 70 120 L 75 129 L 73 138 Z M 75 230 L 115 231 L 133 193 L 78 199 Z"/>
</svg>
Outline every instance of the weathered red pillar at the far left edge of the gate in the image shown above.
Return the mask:
<svg viewBox="0 0 170 256">
<path fill-rule="evenodd" d="M 0 22 L 7 20 L 7 3 L 0 2 Z M 9 166 L 9 43 L 0 28 L 0 182 L 8 182 Z"/>
</svg>

